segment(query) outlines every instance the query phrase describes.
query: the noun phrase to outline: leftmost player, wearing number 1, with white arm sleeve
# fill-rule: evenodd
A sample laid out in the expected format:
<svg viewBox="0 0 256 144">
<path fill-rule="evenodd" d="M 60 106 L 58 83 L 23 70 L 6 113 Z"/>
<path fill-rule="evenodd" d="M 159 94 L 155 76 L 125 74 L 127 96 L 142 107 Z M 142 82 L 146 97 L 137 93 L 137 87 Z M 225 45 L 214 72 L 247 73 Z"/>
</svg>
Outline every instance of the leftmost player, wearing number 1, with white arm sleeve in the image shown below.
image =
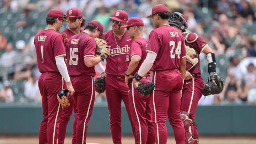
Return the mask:
<svg viewBox="0 0 256 144">
<path fill-rule="evenodd" d="M 38 86 L 42 95 L 43 120 L 39 128 L 39 144 L 56 144 L 62 108 L 57 100 L 60 89 L 74 93 L 68 70 L 64 62 L 66 55 L 64 41 L 56 31 L 62 27 L 64 13 L 59 9 L 52 9 L 46 17 L 47 27 L 34 38 L 36 46 L 38 69 L 42 73 Z M 66 85 L 65 85 L 65 81 Z"/>
</svg>

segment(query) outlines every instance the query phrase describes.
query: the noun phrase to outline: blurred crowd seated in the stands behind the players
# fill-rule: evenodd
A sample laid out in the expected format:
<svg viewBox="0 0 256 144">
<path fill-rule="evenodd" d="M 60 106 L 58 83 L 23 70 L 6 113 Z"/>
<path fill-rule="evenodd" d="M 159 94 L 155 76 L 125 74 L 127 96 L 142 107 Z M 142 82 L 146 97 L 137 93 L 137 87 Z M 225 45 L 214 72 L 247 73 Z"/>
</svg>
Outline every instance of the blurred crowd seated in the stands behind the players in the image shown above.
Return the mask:
<svg viewBox="0 0 256 144">
<path fill-rule="evenodd" d="M 106 32 L 112 25 L 109 17 L 117 9 L 123 9 L 129 17 L 142 18 L 143 35 L 148 39 L 154 27 L 153 21 L 146 16 L 151 14 L 155 4 L 165 4 L 169 11 L 181 12 L 188 21 L 187 32 L 202 36 L 216 58 L 224 58 L 217 63 L 217 67 L 225 66 L 217 71 L 224 71 L 220 74 L 225 78 L 223 92 L 203 96 L 199 105 L 256 103 L 256 0 L 0 0 L 0 13 L 21 13 L 9 29 L 21 31 L 27 28 L 34 30 L 35 35 L 45 27 L 38 26 L 38 21 L 44 21 L 32 15 L 34 10 L 48 12 L 58 8 L 65 14 L 69 8 L 76 7 L 83 12 L 87 22 L 100 21 Z M 8 16 L 7 19 L 12 18 Z M 8 26 L 5 21 L 1 23 Z M 60 31 L 66 27 L 63 23 Z M 0 28 L 0 102 L 41 102 L 34 36 L 26 41 L 22 39 L 27 37 L 24 34 L 21 40 L 10 42 L 1 30 L 7 31 L 5 27 Z M 200 58 L 201 65 L 207 65 L 205 55 Z M 104 95 L 96 98 L 96 102 L 102 100 Z"/>
</svg>

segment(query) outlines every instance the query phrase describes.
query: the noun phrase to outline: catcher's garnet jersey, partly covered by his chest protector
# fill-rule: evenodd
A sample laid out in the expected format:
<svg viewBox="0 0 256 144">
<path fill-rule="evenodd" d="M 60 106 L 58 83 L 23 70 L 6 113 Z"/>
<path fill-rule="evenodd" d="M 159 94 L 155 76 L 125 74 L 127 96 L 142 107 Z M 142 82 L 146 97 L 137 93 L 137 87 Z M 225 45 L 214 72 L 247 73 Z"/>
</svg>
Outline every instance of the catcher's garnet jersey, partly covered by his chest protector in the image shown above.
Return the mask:
<svg viewBox="0 0 256 144">
<path fill-rule="evenodd" d="M 187 36 L 187 34 L 188 33 L 183 34 L 184 38 Z M 196 41 L 194 41 L 195 39 Z M 189 43 L 191 41 L 194 42 Z M 185 45 L 190 48 L 193 48 L 196 51 L 196 54 L 198 55 L 198 63 L 191 70 L 189 70 L 189 72 L 191 74 L 201 74 L 199 54 L 203 52 L 204 48 L 208 46 L 208 44 L 203 40 L 203 38 L 197 36 L 197 34 L 190 33 L 188 34 L 188 37 L 185 40 Z"/>
</svg>

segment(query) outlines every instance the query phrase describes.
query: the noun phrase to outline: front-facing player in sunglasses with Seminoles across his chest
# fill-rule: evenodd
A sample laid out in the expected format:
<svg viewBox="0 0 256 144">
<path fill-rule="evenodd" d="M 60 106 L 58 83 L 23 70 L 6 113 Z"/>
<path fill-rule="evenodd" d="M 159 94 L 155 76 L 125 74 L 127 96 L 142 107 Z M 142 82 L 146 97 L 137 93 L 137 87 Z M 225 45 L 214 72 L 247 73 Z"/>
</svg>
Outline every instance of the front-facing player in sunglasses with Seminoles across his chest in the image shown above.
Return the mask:
<svg viewBox="0 0 256 144">
<path fill-rule="evenodd" d="M 133 42 L 129 38 L 126 28 L 128 14 L 126 11 L 117 10 L 112 19 L 112 30 L 104 33 L 106 42 L 110 50 L 110 58 L 106 65 L 106 96 L 108 110 L 110 112 L 110 131 L 114 144 L 121 144 L 121 101 L 126 106 L 126 111 L 131 122 L 128 100 L 128 88 L 124 82 L 124 73 L 126 71 L 126 54 Z M 134 128 L 133 134 L 134 134 Z"/>
</svg>

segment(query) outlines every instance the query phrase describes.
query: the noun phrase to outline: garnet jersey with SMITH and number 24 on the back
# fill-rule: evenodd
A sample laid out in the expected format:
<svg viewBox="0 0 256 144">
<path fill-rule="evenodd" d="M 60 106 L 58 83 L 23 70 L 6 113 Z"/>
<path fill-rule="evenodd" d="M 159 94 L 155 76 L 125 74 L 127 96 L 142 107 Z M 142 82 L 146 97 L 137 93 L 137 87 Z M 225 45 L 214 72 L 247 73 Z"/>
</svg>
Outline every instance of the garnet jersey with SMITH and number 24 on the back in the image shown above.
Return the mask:
<svg viewBox="0 0 256 144">
<path fill-rule="evenodd" d="M 151 31 L 146 52 L 157 55 L 151 70 L 177 69 L 186 57 L 184 38 L 172 26 L 162 25 Z"/>
</svg>

